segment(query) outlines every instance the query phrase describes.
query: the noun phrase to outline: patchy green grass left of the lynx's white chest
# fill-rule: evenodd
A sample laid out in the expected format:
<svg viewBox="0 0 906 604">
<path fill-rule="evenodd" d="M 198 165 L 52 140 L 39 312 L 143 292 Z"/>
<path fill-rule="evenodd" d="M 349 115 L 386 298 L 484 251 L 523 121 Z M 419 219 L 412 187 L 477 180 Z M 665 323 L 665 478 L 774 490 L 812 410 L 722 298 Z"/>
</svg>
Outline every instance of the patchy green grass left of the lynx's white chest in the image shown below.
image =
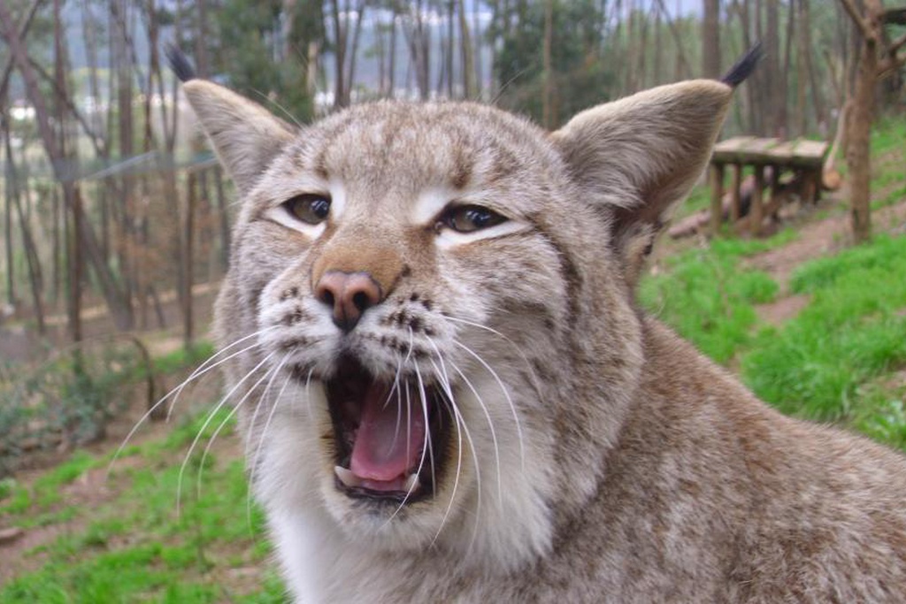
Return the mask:
<svg viewBox="0 0 906 604">
<path fill-rule="evenodd" d="M 0 588 L 0 601 L 284 601 L 284 587 L 273 574 L 265 574 L 252 593 L 233 592 L 212 575 L 214 570 L 263 569 L 270 555 L 262 514 L 253 505 L 246 516 L 242 461 L 209 453 L 198 480 L 209 437 L 224 420 L 226 427 L 217 437 L 234 432 L 235 422 L 227 415 L 219 411 L 201 432 L 181 484 L 180 466 L 207 414 L 183 422 L 163 439 L 130 447 L 112 465 L 111 488 L 119 494 L 94 509 L 65 505 L 61 488 L 89 469 L 106 468 L 111 455 L 73 455 L 31 488 L 5 481 L 0 523 L 28 528 L 40 525 L 43 517 L 72 520 L 82 528 L 26 552 L 42 563 Z M 126 463 L 128 456 L 138 463 Z"/>
</svg>

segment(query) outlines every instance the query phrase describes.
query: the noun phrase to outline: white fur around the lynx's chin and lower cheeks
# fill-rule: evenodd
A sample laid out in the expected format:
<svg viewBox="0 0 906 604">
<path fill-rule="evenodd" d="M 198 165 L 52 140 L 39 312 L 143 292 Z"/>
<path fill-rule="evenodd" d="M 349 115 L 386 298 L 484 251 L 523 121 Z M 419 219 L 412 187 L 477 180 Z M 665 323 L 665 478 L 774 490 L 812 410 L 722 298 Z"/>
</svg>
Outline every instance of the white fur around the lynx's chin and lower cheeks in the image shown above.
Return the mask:
<svg viewBox="0 0 906 604">
<path fill-rule="evenodd" d="M 482 398 L 494 413 L 491 419 L 498 443 L 495 452 L 485 434 L 487 417 L 474 395 L 463 394 L 458 407 L 477 447 L 480 496 L 475 458 L 464 437 L 453 503 L 456 455 L 437 499 L 411 504 L 392 520 L 391 509 L 367 513 L 361 503 L 337 490 L 333 460 L 319 445 L 318 435 L 332 429 L 323 387 L 312 383 L 308 400 L 305 388 L 289 388 L 294 391 L 287 391 L 285 397 L 292 404 L 278 409 L 268 427 L 255 494 L 268 511 L 285 578 L 298 601 L 331 601 L 329 593 L 322 592 L 330 591 L 331 577 L 339 580 L 351 564 L 378 563 L 390 552 L 421 556 L 426 551 L 447 551 L 451 564 L 512 570 L 549 549 L 551 520 L 545 501 L 550 494 L 538 486 L 554 483 L 545 475 L 546 447 L 538 446 L 538 435 L 530 427 L 521 427 L 525 442 L 534 441 L 533 446 L 525 446 L 523 463 L 508 404 L 495 400 L 499 388 L 490 380 L 478 380 L 474 386 L 489 393 Z M 456 441 L 455 435 L 452 438 Z M 252 447 L 254 451 L 254 443 Z"/>
</svg>

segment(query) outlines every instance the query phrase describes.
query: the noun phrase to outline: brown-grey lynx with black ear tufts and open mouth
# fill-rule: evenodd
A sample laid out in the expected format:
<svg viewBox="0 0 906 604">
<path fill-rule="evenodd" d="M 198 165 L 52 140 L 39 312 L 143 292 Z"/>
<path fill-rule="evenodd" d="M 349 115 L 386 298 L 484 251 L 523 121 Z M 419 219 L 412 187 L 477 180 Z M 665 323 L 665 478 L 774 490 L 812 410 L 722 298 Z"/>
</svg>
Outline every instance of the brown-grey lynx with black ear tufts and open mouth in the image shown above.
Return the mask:
<svg viewBox="0 0 906 604">
<path fill-rule="evenodd" d="M 744 60 L 545 132 L 469 102 L 284 122 L 173 60 L 241 197 L 216 331 L 304 602 L 901 602 L 906 464 L 640 310 Z"/>
</svg>

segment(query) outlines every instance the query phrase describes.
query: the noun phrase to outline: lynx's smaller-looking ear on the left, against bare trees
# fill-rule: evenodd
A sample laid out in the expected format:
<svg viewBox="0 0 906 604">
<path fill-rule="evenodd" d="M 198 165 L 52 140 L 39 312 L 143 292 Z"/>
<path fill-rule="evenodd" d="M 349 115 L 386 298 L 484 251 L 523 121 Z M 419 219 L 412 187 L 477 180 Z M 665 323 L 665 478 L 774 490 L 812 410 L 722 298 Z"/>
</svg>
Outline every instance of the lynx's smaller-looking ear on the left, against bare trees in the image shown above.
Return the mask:
<svg viewBox="0 0 906 604">
<path fill-rule="evenodd" d="M 211 81 L 183 84 L 220 163 L 241 193 L 247 193 L 265 168 L 294 139 L 294 129 L 270 111 Z"/>
</svg>

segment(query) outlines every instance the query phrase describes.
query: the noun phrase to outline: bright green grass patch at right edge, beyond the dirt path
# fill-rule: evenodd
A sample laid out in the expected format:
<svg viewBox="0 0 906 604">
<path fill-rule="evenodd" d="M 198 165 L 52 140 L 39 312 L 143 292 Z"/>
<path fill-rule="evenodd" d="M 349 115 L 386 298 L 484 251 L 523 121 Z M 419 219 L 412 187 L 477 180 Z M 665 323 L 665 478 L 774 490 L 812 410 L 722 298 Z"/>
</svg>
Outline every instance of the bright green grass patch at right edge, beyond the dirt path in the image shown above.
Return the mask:
<svg viewBox="0 0 906 604">
<path fill-rule="evenodd" d="M 860 417 L 860 387 L 906 365 L 906 238 L 805 264 L 791 289 L 811 297 L 779 330 L 764 331 L 742 361 L 761 398 L 823 420 Z"/>
</svg>

